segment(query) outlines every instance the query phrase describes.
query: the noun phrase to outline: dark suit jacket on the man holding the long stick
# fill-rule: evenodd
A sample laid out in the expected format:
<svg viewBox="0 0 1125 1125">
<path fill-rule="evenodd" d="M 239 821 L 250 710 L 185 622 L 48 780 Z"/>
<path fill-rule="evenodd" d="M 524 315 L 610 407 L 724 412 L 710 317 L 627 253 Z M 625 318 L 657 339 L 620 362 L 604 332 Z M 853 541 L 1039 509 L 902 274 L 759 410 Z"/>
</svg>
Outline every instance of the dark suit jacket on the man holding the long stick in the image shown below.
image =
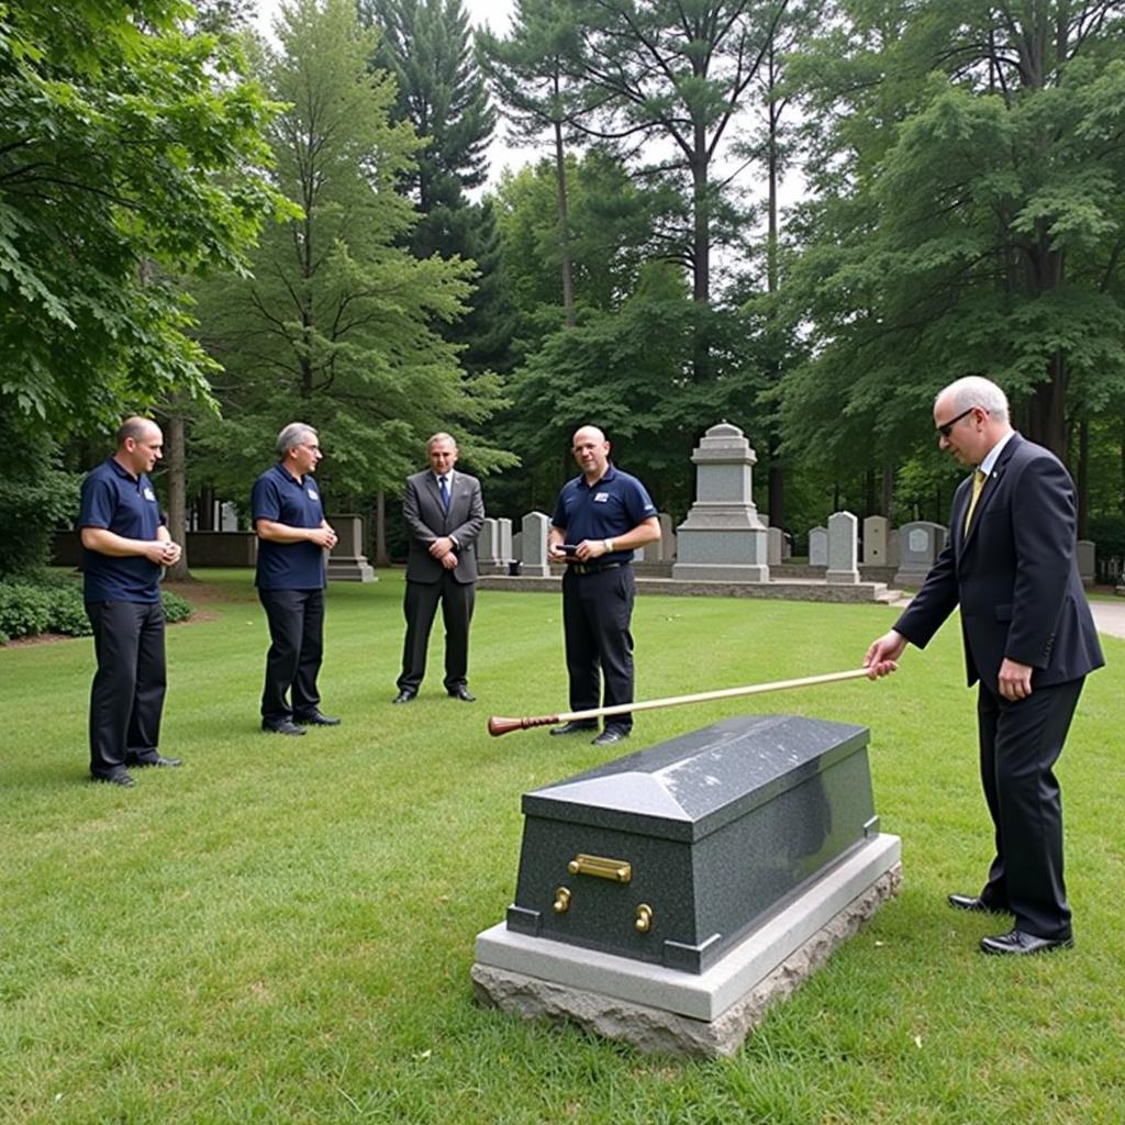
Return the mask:
<svg viewBox="0 0 1125 1125">
<path fill-rule="evenodd" d="M 950 536 L 894 628 L 925 648 L 961 606 L 970 686 L 998 691 L 1005 657 L 1030 665 L 1032 686 L 1066 683 L 1105 664 L 1078 576 L 1074 486 L 1050 450 L 1014 434 L 965 534 L 972 477 L 957 487 Z"/>
</svg>

